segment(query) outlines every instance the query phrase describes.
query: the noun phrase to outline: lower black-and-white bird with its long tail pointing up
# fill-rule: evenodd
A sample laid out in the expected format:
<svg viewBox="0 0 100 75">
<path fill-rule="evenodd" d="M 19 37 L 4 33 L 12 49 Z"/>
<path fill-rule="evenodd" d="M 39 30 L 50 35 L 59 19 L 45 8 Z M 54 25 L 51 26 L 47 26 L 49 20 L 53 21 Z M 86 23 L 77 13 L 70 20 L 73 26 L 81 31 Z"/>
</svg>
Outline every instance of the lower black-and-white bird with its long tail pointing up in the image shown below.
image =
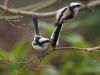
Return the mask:
<svg viewBox="0 0 100 75">
<path fill-rule="evenodd" d="M 33 16 L 33 24 L 35 28 L 35 35 L 32 41 L 32 46 L 37 51 L 44 51 L 48 48 L 50 40 L 40 35 L 38 27 L 38 18 L 36 16 Z"/>
</svg>

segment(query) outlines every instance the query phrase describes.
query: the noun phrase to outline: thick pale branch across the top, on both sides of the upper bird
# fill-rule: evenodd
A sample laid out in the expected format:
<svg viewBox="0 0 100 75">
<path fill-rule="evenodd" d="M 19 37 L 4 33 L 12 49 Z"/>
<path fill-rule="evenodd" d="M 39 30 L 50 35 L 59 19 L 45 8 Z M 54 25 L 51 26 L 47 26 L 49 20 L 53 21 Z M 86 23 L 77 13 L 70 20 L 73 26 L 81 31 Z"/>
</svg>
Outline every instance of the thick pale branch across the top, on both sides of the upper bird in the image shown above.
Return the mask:
<svg viewBox="0 0 100 75">
<path fill-rule="evenodd" d="M 88 3 L 87 5 L 84 5 L 81 9 L 85 9 L 87 7 L 90 8 L 90 7 L 97 6 L 97 5 L 100 5 L 100 1 L 92 1 Z M 38 13 L 38 12 L 32 12 L 32 11 L 22 11 L 22 10 L 7 8 L 3 5 L 0 5 L 0 9 L 3 9 L 9 13 L 16 14 L 16 15 L 27 15 L 27 16 L 36 15 L 38 17 L 54 16 L 57 12 L 57 11 L 51 11 L 51 12 Z"/>
</svg>

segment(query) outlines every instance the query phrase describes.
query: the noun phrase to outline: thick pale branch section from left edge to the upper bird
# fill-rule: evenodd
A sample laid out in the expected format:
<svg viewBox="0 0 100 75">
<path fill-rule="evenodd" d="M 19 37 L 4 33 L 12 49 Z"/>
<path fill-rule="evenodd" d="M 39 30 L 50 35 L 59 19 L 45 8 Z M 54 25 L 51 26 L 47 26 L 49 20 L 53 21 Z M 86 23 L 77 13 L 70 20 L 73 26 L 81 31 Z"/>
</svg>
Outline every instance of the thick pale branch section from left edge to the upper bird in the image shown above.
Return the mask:
<svg viewBox="0 0 100 75">
<path fill-rule="evenodd" d="M 46 13 L 37 13 L 37 12 L 31 12 L 31 11 L 21 11 L 21 10 L 17 10 L 17 9 L 11 9 L 11 8 L 7 8 L 3 5 L 0 5 L 0 9 L 6 10 L 7 12 L 10 12 L 13 14 L 27 15 L 27 16 L 36 15 L 39 17 L 47 17 L 47 16 L 53 16 L 56 14 L 56 11 L 46 12 Z"/>
</svg>

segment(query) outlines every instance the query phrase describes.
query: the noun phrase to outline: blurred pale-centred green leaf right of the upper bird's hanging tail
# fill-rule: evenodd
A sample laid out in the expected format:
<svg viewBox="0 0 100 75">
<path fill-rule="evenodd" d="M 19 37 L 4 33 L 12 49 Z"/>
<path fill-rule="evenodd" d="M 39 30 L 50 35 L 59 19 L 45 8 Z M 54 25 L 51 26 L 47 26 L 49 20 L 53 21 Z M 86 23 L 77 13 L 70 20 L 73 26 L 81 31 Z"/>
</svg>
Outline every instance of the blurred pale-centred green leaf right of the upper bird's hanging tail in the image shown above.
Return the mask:
<svg viewBox="0 0 100 75">
<path fill-rule="evenodd" d="M 64 39 L 75 47 L 87 47 L 88 44 L 85 39 L 77 33 L 67 33 Z"/>
</svg>

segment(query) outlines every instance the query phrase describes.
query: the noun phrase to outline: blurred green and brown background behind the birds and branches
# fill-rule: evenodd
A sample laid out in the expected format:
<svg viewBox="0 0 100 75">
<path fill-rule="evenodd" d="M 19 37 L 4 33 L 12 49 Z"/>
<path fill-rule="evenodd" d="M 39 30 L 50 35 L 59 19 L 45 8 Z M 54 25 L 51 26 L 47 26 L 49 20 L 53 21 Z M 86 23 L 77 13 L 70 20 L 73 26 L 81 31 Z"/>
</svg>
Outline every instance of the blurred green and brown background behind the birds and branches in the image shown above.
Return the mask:
<svg viewBox="0 0 100 75">
<path fill-rule="evenodd" d="M 8 7 L 17 10 L 49 12 L 58 10 L 73 1 L 79 0 L 8 0 Z M 80 1 L 88 3 L 95 0 Z M 4 0 L 0 0 L 0 4 L 3 5 Z M 0 10 L 0 13 L 2 12 L 3 10 Z M 3 15 L 15 16 L 7 12 Z M 54 29 L 54 23 L 55 16 L 39 17 L 41 35 L 49 38 Z M 96 61 L 100 58 L 100 53 L 97 52 L 59 50 L 46 56 L 41 64 L 38 64 L 39 59 L 30 61 L 35 56 L 43 54 L 43 52 L 36 52 L 31 46 L 32 35 L 34 35 L 32 17 L 23 16 L 20 21 L 13 24 L 20 28 L 0 18 L 0 75 L 100 75 L 100 62 Z M 79 48 L 98 45 L 100 45 L 99 5 L 93 9 L 80 11 L 76 18 L 65 23 L 59 43 L 59 46 Z M 23 61 L 29 62 L 23 64 Z"/>
</svg>

